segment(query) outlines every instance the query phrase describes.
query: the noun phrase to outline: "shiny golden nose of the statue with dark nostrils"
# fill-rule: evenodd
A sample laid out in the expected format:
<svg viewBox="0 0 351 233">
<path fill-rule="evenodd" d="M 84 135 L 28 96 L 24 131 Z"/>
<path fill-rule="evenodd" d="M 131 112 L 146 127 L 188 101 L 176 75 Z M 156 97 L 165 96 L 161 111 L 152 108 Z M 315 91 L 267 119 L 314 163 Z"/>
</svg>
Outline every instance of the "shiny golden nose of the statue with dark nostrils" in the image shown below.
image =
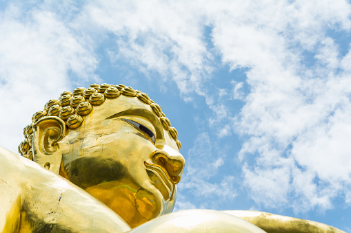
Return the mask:
<svg viewBox="0 0 351 233">
<path fill-rule="evenodd" d="M 185 166 L 185 159 L 181 153 L 165 145 L 162 146 L 161 150 L 155 151 L 154 155 L 152 155 L 152 160 L 155 164 L 167 170 L 174 184 L 178 184 L 181 181 L 181 175 Z"/>
</svg>

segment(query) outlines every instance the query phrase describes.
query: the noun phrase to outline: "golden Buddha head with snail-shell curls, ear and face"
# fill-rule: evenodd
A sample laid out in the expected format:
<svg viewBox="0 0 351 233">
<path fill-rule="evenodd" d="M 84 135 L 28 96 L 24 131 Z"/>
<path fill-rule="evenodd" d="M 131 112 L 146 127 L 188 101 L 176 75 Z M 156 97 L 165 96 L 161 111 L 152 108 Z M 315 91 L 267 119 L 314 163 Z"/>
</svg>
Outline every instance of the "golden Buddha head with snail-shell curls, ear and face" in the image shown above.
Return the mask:
<svg viewBox="0 0 351 233">
<path fill-rule="evenodd" d="M 170 120 L 124 85 L 65 91 L 34 113 L 19 153 L 68 179 L 132 228 L 172 212 L 185 161 Z"/>
</svg>

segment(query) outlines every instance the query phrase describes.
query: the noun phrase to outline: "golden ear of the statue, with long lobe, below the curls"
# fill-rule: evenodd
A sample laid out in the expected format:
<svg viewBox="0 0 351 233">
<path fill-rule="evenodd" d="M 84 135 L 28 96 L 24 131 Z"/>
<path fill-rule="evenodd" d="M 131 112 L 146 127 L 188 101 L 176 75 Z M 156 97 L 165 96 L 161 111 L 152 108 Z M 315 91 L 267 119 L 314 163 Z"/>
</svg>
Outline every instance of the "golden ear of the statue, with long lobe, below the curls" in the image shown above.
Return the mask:
<svg viewBox="0 0 351 233">
<path fill-rule="evenodd" d="M 33 160 L 59 174 L 62 152 L 58 142 L 66 133 L 66 124 L 57 116 L 40 118 L 33 124 Z"/>
</svg>

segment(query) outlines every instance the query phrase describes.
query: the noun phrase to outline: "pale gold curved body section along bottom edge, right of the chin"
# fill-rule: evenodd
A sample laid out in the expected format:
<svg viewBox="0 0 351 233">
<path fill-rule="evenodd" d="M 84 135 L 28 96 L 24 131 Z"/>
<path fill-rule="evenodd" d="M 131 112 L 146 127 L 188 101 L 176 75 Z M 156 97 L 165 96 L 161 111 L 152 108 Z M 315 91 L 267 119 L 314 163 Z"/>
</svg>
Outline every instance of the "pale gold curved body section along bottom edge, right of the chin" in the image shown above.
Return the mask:
<svg viewBox="0 0 351 233">
<path fill-rule="evenodd" d="M 132 232 L 342 233 L 343 231 L 315 221 L 259 211 L 183 210 L 153 219 Z"/>
</svg>

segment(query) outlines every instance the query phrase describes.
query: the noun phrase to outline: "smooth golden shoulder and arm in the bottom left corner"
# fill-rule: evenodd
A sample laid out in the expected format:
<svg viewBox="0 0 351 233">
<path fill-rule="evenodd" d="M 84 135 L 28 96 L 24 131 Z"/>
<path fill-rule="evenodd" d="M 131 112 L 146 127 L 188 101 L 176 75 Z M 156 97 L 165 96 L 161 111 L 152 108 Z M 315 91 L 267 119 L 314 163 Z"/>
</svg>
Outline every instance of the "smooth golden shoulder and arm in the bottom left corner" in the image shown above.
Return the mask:
<svg viewBox="0 0 351 233">
<path fill-rule="evenodd" d="M 66 179 L 0 147 L 0 232 L 126 232 L 128 224 Z"/>
</svg>

